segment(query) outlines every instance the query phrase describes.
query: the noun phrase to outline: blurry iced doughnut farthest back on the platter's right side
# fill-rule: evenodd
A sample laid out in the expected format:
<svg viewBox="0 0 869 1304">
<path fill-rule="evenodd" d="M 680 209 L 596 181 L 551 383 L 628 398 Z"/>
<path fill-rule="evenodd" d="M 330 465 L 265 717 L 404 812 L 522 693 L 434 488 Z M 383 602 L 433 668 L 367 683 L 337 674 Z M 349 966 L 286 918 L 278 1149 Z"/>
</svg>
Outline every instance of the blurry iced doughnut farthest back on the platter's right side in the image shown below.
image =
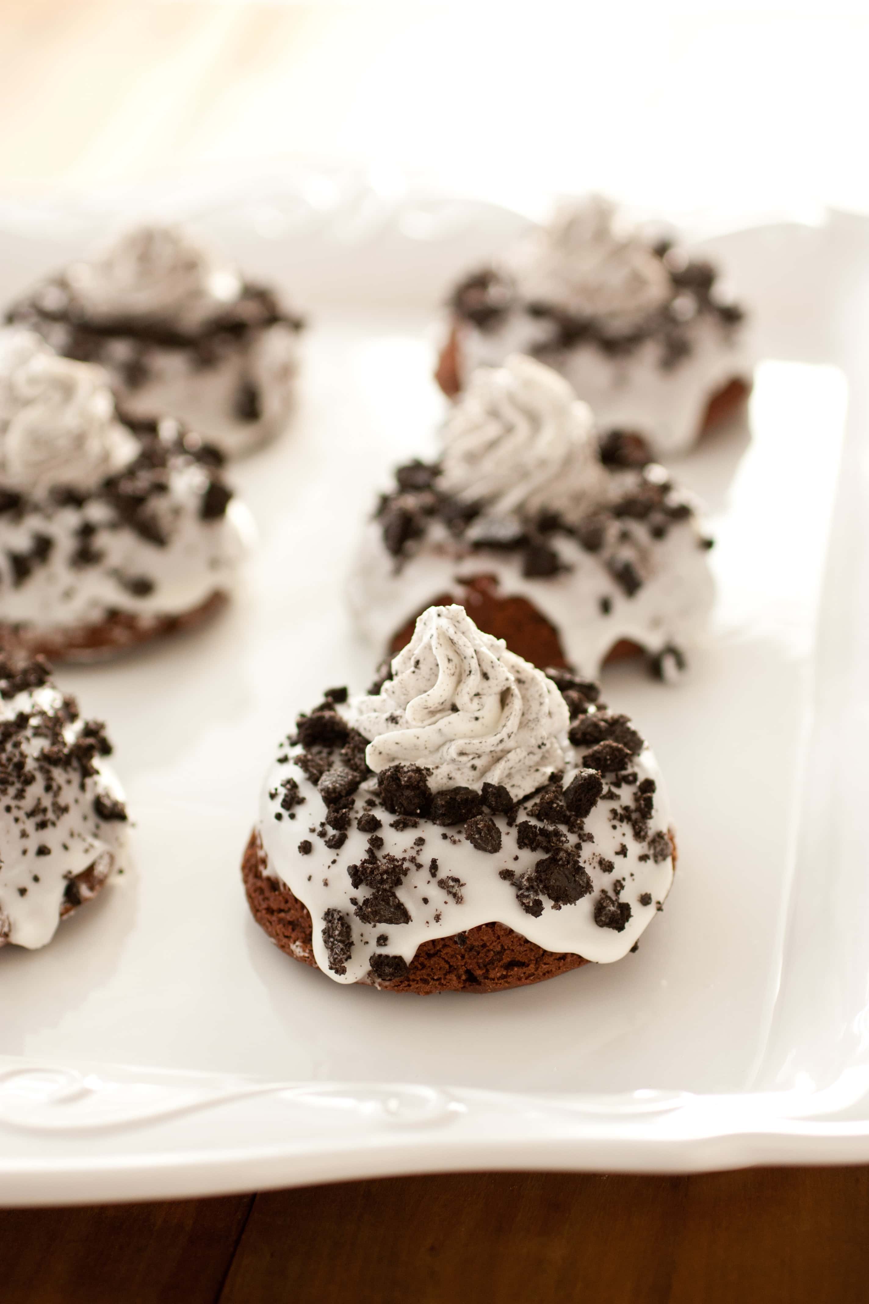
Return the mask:
<svg viewBox="0 0 869 1304">
<path fill-rule="evenodd" d="M 625 227 L 598 196 L 565 201 L 498 265 L 466 275 L 448 313 L 435 378 L 449 398 L 477 366 L 530 353 L 655 458 L 687 452 L 750 389 L 745 314 L 718 269 Z"/>
</svg>

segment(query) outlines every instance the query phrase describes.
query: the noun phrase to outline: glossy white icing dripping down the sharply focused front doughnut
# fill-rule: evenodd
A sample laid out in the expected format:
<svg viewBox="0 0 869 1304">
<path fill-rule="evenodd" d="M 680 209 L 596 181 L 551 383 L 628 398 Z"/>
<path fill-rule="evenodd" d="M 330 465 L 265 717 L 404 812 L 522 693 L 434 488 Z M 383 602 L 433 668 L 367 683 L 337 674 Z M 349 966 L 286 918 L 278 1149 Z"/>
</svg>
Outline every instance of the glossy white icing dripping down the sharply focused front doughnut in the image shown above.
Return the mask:
<svg viewBox="0 0 869 1304">
<path fill-rule="evenodd" d="M 352 983 L 363 978 L 378 949 L 384 955 L 401 956 L 409 964 L 423 941 L 466 932 L 492 921 L 507 925 L 547 951 L 611 964 L 631 951 L 655 917 L 655 906 L 663 902 L 670 891 L 672 859 L 666 857 L 655 861 L 649 854 L 648 842 L 637 841 L 628 825 L 619 823 L 614 829 L 608 818 L 608 810 L 614 805 L 611 801 L 599 801 L 585 819 L 585 831 L 593 840 L 582 844 L 581 859 L 591 880 L 591 892 L 560 909 L 546 900 L 537 918 L 521 908 L 513 885 L 500 878 L 500 871 L 509 870 L 515 875 L 530 872 L 545 853 L 520 849 L 515 828 L 508 827 L 503 815 L 492 816 L 502 833 L 502 850 L 495 854 L 473 848 L 464 838 L 461 827 L 442 829 L 420 820 L 410 829 L 395 829 L 384 822 L 379 829 L 383 846 L 378 855 L 406 857 L 418 865 L 395 889 L 410 922 L 366 925 L 356 915 L 354 901 L 350 900 L 358 901 L 365 892 L 354 889 L 347 874 L 348 865 L 358 865 L 366 859 L 366 835 L 352 824 L 347 841 L 337 852 L 327 849 L 315 836 L 326 807 L 317 788 L 292 764 L 297 754 L 297 750 L 291 750 L 289 767 L 279 763 L 271 767 L 263 789 L 258 831 L 268 859 L 268 874 L 285 883 L 307 906 L 313 919 L 314 958 L 335 982 Z M 573 755 L 572 748 L 571 754 Z M 564 785 L 573 777 L 573 765 L 580 764 L 581 755 L 577 752 L 576 760 L 565 772 Z M 305 805 L 298 807 L 298 818 L 293 822 L 284 818 L 280 808 L 280 784 L 287 778 L 288 769 L 305 798 Z M 650 778 L 655 784 L 649 833 L 666 832 L 670 828 L 670 807 L 661 771 L 649 747 L 644 747 L 636 758 L 634 769 L 637 782 Z M 633 788 L 624 788 L 619 799 L 629 803 L 632 793 Z M 281 815 L 280 820 L 275 819 L 276 814 Z M 309 837 L 309 825 L 313 850 L 309 855 L 302 855 L 298 841 Z M 446 840 L 443 833 L 447 835 Z M 425 837 L 422 848 L 417 845 L 420 836 Z M 446 876 L 460 880 L 461 901 L 438 887 L 438 879 Z M 619 879 L 624 882 L 620 900 L 631 906 L 631 917 L 621 932 L 601 927 L 594 918 L 601 893 L 612 896 L 614 884 Z M 650 900 L 644 904 L 646 893 Z M 327 909 L 340 910 L 352 930 L 353 947 L 343 974 L 330 969 L 328 964 L 323 941 L 323 914 Z M 383 934 L 387 936 L 386 945 L 378 948 L 377 938 Z"/>
</svg>

